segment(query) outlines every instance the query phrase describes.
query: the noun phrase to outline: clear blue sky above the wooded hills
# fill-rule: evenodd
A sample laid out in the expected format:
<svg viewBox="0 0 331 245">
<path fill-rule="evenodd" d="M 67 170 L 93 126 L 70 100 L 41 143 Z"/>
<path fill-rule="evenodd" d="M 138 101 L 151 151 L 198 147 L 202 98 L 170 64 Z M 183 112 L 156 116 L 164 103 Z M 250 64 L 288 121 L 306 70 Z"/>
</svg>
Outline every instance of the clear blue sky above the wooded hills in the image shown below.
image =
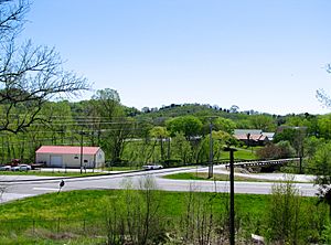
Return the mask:
<svg viewBox="0 0 331 245">
<path fill-rule="evenodd" d="M 141 109 L 201 103 L 325 109 L 330 0 L 34 0 L 22 33 L 55 46 L 94 89 Z M 89 98 L 86 94 L 84 98 Z"/>
</svg>

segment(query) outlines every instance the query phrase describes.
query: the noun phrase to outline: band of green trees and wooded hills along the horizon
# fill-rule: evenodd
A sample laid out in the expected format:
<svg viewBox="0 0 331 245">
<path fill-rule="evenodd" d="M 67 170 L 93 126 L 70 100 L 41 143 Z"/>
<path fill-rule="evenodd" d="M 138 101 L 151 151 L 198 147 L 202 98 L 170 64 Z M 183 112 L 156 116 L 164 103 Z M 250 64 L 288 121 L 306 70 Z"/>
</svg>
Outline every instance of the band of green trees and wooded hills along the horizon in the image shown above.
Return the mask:
<svg viewBox="0 0 331 245">
<path fill-rule="evenodd" d="M 21 115 L 29 114 L 29 105 L 13 108 L 11 115 L 6 115 L 6 109 L 0 111 L 2 125 L 17 125 L 24 120 Z M 210 132 L 217 161 L 224 145 L 239 143 L 233 137 L 236 128 L 276 131 L 275 142 L 284 146 L 286 141 L 289 155 L 305 151 L 314 156 L 317 142 L 331 138 L 330 122 L 331 115 L 277 116 L 238 111 L 235 106 L 231 111 L 199 104 L 138 110 L 122 105 L 118 93 L 106 88 L 88 100 L 46 102 L 29 128 L 18 134 L 2 130 L 0 159 L 2 163 L 15 158 L 33 162 L 34 151 L 42 145 L 83 143 L 102 147 L 111 164 L 203 163 L 209 161 Z M 259 157 L 275 158 L 275 147 L 269 145 Z"/>
</svg>

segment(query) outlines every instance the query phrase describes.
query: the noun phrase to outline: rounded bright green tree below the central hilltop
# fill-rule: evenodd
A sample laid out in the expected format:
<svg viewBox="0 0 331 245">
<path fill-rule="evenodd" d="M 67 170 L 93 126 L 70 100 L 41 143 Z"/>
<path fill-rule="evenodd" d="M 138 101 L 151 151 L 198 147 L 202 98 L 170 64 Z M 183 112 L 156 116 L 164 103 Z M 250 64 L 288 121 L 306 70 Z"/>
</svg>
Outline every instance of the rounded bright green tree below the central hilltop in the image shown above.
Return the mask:
<svg viewBox="0 0 331 245">
<path fill-rule="evenodd" d="M 168 120 L 166 125 L 171 136 L 174 136 L 175 132 L 183 132 L 188 139 L 199 136 L 202 130 L 202 121 L 194 116 L 175 117 Z"/>
</svg>

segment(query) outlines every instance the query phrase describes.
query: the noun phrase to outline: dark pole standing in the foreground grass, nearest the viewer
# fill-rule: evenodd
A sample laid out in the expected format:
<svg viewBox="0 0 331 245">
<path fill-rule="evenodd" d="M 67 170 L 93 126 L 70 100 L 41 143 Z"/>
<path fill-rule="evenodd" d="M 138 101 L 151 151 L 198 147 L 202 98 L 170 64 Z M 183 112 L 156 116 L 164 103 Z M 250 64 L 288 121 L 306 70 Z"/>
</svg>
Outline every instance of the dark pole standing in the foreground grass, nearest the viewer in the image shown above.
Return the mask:
<svg viewBox="0 0 331 245">
<path fill-rule="evenodd" d="M 235 203 L 234 203 L 234 148 L 225 148 L 229 151 L 229 245 L 235 244 Z"/>
</svg>

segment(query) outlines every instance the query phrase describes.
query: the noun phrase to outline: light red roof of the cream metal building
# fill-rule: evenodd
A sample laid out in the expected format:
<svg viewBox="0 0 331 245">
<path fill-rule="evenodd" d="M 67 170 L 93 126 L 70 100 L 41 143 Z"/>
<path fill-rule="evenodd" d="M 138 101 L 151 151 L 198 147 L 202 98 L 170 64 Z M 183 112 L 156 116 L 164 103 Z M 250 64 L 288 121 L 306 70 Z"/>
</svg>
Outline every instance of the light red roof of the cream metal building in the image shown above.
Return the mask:
<svg viewBox="0 0 331 245">
<path fill-rule="evenodd" d="M 84 155 L 95 155 L 99 147 L 83 147 Z M 35 153 L 56 153 L 56 155 L 79 155 L 81 147 L 66 147 L 66 146 L 42 146 Z"/>
</svg>

